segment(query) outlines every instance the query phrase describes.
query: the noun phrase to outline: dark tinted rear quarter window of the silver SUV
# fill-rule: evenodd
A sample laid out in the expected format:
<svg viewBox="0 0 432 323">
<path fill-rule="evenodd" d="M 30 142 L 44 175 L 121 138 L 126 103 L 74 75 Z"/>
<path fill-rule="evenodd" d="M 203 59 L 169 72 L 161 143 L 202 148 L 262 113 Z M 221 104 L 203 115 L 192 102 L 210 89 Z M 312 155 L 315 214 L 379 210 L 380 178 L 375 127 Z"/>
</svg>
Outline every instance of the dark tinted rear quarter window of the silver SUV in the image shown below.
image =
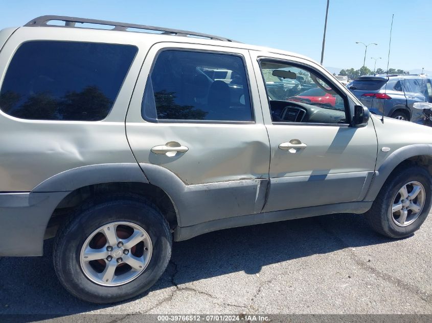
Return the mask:
<svg viewBox="0 0 432 323">
<path fill-rule="evenodd" d="M 137 51 L 121 44 L 25 42 L 6 71 L 0 109 L 24 119 L 102 120 Z"/>
</svg>

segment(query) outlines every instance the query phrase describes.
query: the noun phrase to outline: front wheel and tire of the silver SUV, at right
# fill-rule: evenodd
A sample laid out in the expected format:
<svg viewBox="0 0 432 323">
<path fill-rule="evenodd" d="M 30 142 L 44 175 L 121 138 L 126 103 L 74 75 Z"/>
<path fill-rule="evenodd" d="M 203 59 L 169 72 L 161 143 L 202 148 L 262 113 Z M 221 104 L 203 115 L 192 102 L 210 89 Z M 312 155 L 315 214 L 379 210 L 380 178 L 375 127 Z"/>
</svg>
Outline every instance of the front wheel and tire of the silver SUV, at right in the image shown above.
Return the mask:
<svg viewBox="0 0 432 323">
<path fill-rule="evenodd" d="M 432 180 L 425 168 L 399 167 L 384 183 L 366 216 L 376 232 L 390 238 L 407 237 L 426 220 L 431 196 Z"/>
</svg>

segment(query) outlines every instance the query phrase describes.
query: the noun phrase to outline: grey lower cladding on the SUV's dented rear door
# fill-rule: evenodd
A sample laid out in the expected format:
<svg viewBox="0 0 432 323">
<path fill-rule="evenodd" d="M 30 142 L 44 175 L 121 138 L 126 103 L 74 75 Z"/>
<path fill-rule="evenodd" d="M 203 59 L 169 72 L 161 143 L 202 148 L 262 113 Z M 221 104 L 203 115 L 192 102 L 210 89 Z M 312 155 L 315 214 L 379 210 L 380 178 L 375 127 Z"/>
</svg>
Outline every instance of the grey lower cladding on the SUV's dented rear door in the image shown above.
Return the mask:
<svg viewBox="0 0 432 323">
<path fill-rule="evenodd" d="M 244 179 L 186 185 L 162 166 L 141 163 L 149 183 L 163 189 L 173 201 L 179 227 L 257 214 L 264 206 L 268 179 Z"/>
</svg>

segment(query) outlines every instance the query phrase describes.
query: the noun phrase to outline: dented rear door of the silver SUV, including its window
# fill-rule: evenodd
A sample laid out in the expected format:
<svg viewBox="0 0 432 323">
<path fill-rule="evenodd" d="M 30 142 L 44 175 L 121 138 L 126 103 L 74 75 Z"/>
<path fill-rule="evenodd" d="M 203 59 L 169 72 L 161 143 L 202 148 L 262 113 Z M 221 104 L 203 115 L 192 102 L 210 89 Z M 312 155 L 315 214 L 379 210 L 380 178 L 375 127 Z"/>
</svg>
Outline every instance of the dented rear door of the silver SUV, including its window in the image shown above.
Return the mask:
<svg viewBox="0 0 432 323">
<path fill-rule="evenodd" d="M 214 78 L 216 69 L 232 71 L 231 78 Z M 270 148 L 252 70 L 244 49 L 157 43 L 147 55 L 126 133 L 150 183 L 169 191 L 178 179 L 181 198 L 193 195 L 202 206 L 194 212 L 191 205 L 186 212 L 194 215 L 182 216 L 181 226 L 264 205 Z M 163 183 L 152 173 L 161 168 Z"/>
</svg>

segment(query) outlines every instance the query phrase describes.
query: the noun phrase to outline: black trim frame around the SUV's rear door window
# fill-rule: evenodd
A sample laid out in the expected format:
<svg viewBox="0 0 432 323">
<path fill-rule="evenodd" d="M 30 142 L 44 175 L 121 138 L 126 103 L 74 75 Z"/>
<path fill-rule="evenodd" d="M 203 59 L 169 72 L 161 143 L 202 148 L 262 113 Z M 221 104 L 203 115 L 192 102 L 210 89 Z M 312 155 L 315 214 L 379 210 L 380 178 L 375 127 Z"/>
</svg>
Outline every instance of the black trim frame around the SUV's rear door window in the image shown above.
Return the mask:
<svg viewBox="0 0 432 323">
<path fill-rule="evenodd" d="M 157 118 L 150 118 L 145 113 L 143 113 L 143 101 L 144 101 L 144 94 L 147 89 L 148 85 L 148 79 L 151 77 L 151 73 L 153 72 L 154 65 L 156 63 L 157 58 L 162 52 L 165 51 L 179 51 L 179 52 L 194 52 L 194 53 L 211 53 L 211 54 L 222 54 L 222 55 L 230 55 L 230 56 L 237 56 L 243 61 L 244 70 L 246 73 L 246 82 L 247 82 L 247 90 L 249 91 L 249 101 L 251 102 L 251 113 L 252 113 L 252 121 L 233 121 L 233 120 L 189 120 L 189 119 L 157 119 Z M 198 48 L 182 48 L 182 47 L 164 47 L 157 51 L 156 55 L 153 58 L 153 62 L 151 64 L 148 77 L 146 79 L 146 84 L 144 86 L 144 92 L 142 94 L 141 98 L 141 117 L 143 120 L 152 122 L 152 123 L 210 123 L 210 124 L 225 124 L 225 125 L 255 125 L 257 123 L 256 117 L 255 117 L 255 107 L 254 107 L 254 101 L 252 100 L 252 91 L 251 91 L 251 81 L 249 80 L 249 71 L 247 69 L 246 60 L 242 54 L 239 53 L 232 53 L 232 52 L 220 52 L 220 51 L 212 51 L 208 49 L 198 49 Z"/>
</svg>

